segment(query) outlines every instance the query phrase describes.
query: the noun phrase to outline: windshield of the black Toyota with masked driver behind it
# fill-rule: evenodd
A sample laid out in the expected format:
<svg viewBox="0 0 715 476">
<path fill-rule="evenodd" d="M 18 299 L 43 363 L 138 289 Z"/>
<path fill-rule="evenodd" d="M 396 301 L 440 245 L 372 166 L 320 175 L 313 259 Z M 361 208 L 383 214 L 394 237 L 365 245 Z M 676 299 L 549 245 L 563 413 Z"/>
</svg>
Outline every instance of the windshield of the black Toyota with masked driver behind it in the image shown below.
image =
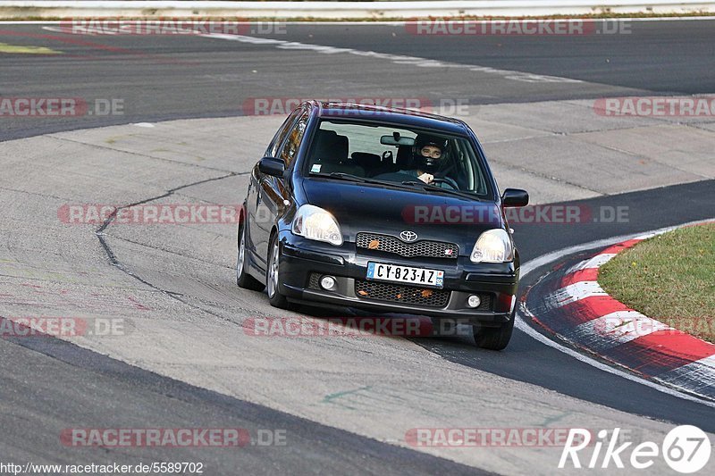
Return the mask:
<svg viewBox="0 0 715 476">
<path fill-rule="evenodd" d="M 458 191 L 488 198 L 490 181 L 477 154 L 464 137 L 324 119 L 310 146 L 307 173 L 362 183 L 424 183 L 431 186 L 419 188 L 425 193 Z"/>
</svg>

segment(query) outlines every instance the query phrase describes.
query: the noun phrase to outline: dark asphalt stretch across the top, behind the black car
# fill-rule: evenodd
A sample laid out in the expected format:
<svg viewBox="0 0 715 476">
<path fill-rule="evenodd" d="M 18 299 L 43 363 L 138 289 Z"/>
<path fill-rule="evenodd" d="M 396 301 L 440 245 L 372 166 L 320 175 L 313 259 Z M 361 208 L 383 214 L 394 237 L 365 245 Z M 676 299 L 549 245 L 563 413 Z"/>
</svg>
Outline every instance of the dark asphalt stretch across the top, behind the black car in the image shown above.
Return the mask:
<svg viewBox="0 0 715 476">
<path fill-rule="evenodd" d="M 629 27 L 628 34 L 612 35 L 442 37 L 410 34 L 400 25 L 282 24 L 275 27 L 280 33 L 252 35 L 583 81 L 564 84 L 496 80 L 442 67 L 416 70 L 350 54 L 315 57 L 216 38 L 76 36 L 38 25 L 0 24 L 0 43 L 63 52 L 4 54 L 0 48 L 0 95 L 123 101 L 120 116 L 6 118 L 0 140 L 126 122 L 240 115 L 242 104 L 254 97 L 413 97 L 435 103 L 449 98 L 490 104 L 715 90 L 715 21 L 633 21 Z"/>
</svg>

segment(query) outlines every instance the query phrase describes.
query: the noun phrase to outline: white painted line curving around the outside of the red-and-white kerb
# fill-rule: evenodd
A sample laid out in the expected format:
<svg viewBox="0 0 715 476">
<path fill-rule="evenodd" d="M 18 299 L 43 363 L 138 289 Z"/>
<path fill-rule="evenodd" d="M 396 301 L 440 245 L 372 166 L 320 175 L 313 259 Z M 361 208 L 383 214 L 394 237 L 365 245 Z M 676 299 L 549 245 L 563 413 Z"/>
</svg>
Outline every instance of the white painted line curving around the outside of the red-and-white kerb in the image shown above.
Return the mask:
<svg viewBox="0 0 715 476">
<path fill-rule="evenodd" d="M 656 234 L 656 233 L 665 233 L 666 231 L 670 230 L 676 230 L 677 228 L 680 228 L 682 226 L 686 225 L 695 225 L 699 223 L 707 223 L 715 221 L 715 219 L 709 219 L 709 220 L 701 220 L 701 221 L 690 221 L 687 223 L 683 223 L 682 225 L 677 225 L 673 227 L 667 227 L 667 228 L 661 228 L 659 230 L 652 230 L 651 232 L 648 232 L 648 234 Z M 541 268 L 545 264 L 552 263 L 562 256 L 565 255 L 572 255 L 574 253 L 578 253 L 581 251 L 585 251 L 587 249 L 593 249 L 601 246 L 609 246 L 609 245 L 614 245 L 616 243 L 620 243 L 621 241 L 627 241 L 628 239 L 633 239 L 633 238 L 640 238 L 643 237 L 644 233 L 635 233 L 632 235 L 623 235 L 620 237 L 614 237 L 614 238 L 605 238 L 605 239 L 599 239 L 596 241 L 591 241 L 590 243 L 585 243 L 583 245 L 576 245 L 576 246 L 569 246 L 567 248 L 560 249 L 558 251 L 553 251 L 551 253 L 548 253 L 546 255 L 539 256 L 538 258 L 535 258 L 525 264 L 522 264 L 521 266 L 521 276 L 522 279 L 526 277 L 529 273 L 535 271 L 538 268 Z M 570 349 L 568 347 L 560 345 L 558 342 L 555 342 L 551 340 L 551 338 L 548 338 L 544 336 L 542 333 L 538 332 L 535 330 L 533 327 L 531 327 L 522 317 L 522 315 L 526 316 L 527 318 L 531 319 L 534 317 L 534 314 L 532 314 L 529 309 L 526 307 L 525 303 L 521 303 L 519 305 L 519 310 L 517 313 L 517 318 L 516 321 L 514 322 L 515 325 L 517 326 L 518 330 L 521 330 L 524 332 L 527 336 L 534 338 L 544 344 L 545 346 L 552 347 L 559 352 L 562 352 L 566 355 L 569 355 L 571 357 L 574 357 L 576 360 L 587 363 L 591 365 L 592 367 L 595 367 L 603 372 L 609 372 L 613 375 L 618 375 L 618 377 L 623 377 L 624 379 L 631 380 L 635 383 L 640 383 L 641 385 L 644 385 L 646 387 L 653 388 L 655 390 L 658 390 L 659 392 L 662 392 L 664 394 L 667 394 L 671 397 L 677 397 L 677 398 L 682 398 L 684 400 L 688 400 L 691 402 L 695 402 L 698 404 L 710 406 L 711 408 L 715 408 L 715 402 L 711 402 L 708 400 L 702 400 L 701 398 L 693 397 L 685 393 L 681 393 L 673 388 L 669 388 L 663 385 L 660 385 L 656 382 L 653 382 L 651 380 L 645 380 L 640 377 L 636 377 L 635 375 L 631 375 L 630 373 L 620 371 L 614 367 L 611 367 L 610 365 L 606 365 L 605 363 L 598 362 L 594 360 L 591 357 L 588 357 L 586 355 L 580 354 L 579 352 L 576 352 L 573 349 Z M 700 362 L 700 361 L 699 361 Z M 698 365 L 708 365 L 710 366 L 712 363 L 709 361 L 708 363 L 698 363 Z M 694 365 L 694 364 L 691 364 Z M 689 369 L 690 370 L 690 369 Z"/>
</svg>

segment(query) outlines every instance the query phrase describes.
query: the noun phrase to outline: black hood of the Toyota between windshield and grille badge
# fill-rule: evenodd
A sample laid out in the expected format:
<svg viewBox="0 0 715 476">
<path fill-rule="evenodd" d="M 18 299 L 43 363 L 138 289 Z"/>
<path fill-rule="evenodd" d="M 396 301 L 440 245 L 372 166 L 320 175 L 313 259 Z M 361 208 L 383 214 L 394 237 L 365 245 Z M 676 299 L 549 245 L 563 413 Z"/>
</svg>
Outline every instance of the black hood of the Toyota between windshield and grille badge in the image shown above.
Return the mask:
<svg viewBox="0 0 715 476">
<path fill-rule="evenodd" d="M 303 189 L 309 204 L 333 214 L 348 241 L 359 232 L 399 237 L 408 230 L 418 240 L 456 243 L 469 255 L 484 230 L 503 227 L 500 207 L 490 201 L 344 180 L 306 179 Z"/>
</svg>

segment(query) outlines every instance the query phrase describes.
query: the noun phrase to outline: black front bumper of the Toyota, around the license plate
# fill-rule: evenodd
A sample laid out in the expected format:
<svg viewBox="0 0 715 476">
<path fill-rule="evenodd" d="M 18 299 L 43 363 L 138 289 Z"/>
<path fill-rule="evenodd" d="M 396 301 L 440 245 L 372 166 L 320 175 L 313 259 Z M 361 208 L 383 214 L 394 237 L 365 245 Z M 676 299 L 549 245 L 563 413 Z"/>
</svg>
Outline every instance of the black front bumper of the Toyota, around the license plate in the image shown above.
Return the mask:
<svg viewBox="0 0 715 476">
<path fill-rule="evenodd" d="M 499 325 L 512 318 L 516 304 L 518 270 L 514 263 L 471 263 L 467 256 L 454 260 L 443 258 L 404 258 L 360 248 L 346 242 L 332 246 L 283 231 L 279 235 L 279 290 L 290 301 L 310 305 L 341 305 L 377 313 L 409 313 L 462 323 Z M 393 294 L 390 283 L 378 283 L 383 291 L 378 298 L 365 291 L 376 281 L 366 281 L 368 261 L 390 263 L 444 271 L 442 291 L 414 286 L 400 286 Z M 317 284 L 323 275 L 336 279 L 335 290 L 327 291 Z M 409 293 L 402 292 L 408 288 Z M 358 291 L 356 291 L 358 289 Z M 369 288 L 370 290 L 372 288 Z M 433 291 L 433 292 L 430 292 Z M 360 294 L 358 294 L 358 292 Z M 410 296 L 417 296 L 410 299 Z M 440 299 L 422 299 L 420 296 Z M 467 297 L 478 295 L 482 304 L 467 306 Z M 445 296 L 446 295 L 446 296 Z M 416 301 L 416 302 L 415 302 Z"/>
</svg>

